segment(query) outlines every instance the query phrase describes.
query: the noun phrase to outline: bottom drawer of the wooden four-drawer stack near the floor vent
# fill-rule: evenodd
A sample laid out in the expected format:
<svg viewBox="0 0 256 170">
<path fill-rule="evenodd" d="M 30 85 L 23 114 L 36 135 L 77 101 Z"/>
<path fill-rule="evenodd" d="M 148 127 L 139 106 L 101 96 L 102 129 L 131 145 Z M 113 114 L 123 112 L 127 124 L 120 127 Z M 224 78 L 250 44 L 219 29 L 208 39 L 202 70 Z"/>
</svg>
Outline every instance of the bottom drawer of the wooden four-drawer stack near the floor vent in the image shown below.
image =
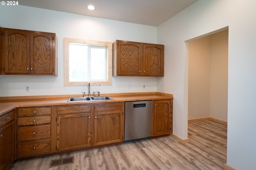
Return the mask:
<svg viewBox="0 0 256 170">
<path fill-rule="evenodd" d="M 50 139 L 20 142 L 17 146 L 18 158 L 49 154 L 51 152 Z"/>
</svg>

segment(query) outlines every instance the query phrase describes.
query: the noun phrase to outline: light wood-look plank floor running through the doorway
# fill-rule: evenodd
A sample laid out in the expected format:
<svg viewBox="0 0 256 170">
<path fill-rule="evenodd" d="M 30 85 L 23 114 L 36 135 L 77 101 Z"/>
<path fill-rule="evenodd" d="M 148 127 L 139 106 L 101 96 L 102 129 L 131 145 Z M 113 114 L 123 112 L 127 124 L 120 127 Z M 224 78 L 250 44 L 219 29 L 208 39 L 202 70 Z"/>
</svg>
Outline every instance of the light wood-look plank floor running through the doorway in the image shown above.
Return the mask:
<svg viewBox="0 0 256 170">
<path fill-rule="evenodd" d="M 188 144 L 166 136 L 22 160 L 11 170 L 224 170 L 226 125 L 213 121 L 189 123 L 188 138 Z M 74 164 L 49 168 L 51 160 L 69 156 L 74 156 Z"/>
</svg>

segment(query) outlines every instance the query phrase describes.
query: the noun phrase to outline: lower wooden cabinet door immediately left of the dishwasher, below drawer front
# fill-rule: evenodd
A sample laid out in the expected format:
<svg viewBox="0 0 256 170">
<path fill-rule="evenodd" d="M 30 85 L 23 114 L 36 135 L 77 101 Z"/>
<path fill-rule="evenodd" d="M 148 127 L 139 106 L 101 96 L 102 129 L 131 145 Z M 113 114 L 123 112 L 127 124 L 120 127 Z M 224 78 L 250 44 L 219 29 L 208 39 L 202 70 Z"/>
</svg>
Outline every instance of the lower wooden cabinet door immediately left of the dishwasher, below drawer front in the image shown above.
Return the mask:
<svg viewBox="0 0 256 170">
<path fill-rule="evenodd" d="M 104 145 L 123 141 L 123 112 L 94 113 L 94 144 Z"/>
</svg>

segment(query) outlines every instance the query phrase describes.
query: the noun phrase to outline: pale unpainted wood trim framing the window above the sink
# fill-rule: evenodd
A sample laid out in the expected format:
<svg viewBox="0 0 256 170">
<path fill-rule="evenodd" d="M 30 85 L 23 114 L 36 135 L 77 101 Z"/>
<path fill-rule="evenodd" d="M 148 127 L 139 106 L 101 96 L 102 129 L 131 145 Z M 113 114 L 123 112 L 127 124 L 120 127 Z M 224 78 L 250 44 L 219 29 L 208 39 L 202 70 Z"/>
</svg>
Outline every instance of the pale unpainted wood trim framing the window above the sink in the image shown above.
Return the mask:
<svg viewBox="0 0 256 170">
<path fill-rule="evenodd" d="M 107 53 L 107 81 L 90 81 L 90 85 L 112 85 L 112 42 L 83 40 L 76 38 L 64 38 L 64 85 L 65 86 L 80 86 L 87 85 L 88 81 L 72 82 L 69 81 L 69 43 L 85 43 L 92 45 L 104 45 L 108 48 Z"/>
</svg>

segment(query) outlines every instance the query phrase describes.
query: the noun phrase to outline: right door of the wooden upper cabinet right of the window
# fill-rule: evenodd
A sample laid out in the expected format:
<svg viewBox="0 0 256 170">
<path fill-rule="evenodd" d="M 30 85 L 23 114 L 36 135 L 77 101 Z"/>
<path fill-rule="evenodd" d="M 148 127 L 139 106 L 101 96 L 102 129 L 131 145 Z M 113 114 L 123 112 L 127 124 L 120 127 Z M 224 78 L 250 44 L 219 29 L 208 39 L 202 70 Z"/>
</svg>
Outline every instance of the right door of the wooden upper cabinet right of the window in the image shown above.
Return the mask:
<svg viewBox="0 0 256 170">
<path fill-rule="evenodd" d="M 164 45 L 143 44 L 143 75 L 164 76 Z"/>
</svg>

